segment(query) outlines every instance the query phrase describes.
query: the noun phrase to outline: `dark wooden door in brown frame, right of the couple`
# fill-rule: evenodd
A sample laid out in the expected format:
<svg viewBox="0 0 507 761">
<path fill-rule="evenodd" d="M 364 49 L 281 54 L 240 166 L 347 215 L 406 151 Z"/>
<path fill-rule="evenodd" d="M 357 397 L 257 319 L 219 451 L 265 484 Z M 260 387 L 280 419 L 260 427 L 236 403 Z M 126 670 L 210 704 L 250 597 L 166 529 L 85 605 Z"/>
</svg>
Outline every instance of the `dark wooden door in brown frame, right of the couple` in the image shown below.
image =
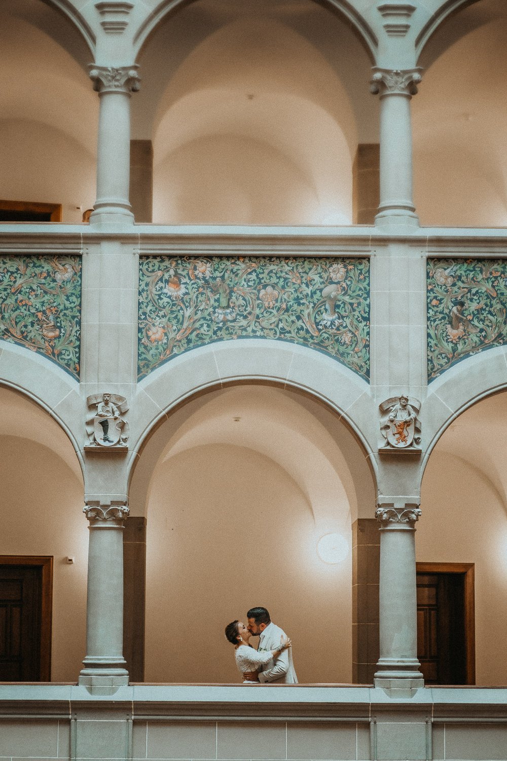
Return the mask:
<svg viewBox="0 0 507 761">
<path fill-rule="evenodd" d="M 417 563 L 417 657 L 426 684 L 474 684 L 474 565 Z"/>
</svg>

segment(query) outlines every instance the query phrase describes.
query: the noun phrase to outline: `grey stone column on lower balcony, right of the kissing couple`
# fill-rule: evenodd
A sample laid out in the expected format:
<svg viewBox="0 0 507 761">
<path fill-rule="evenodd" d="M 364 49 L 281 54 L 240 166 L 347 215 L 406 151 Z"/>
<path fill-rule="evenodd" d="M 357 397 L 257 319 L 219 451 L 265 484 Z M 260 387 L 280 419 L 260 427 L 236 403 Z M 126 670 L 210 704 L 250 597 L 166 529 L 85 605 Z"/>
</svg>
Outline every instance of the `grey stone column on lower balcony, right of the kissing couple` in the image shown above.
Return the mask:
<svg viewBox="0 0 507 761">
<path fill-rule="evenodd" d="M 380 497 L 380 658 L 375 686 L 417 689 L 424 686 L 417 661 L 417 589 L 415 524 L 419 501 Z"/>
</svg>

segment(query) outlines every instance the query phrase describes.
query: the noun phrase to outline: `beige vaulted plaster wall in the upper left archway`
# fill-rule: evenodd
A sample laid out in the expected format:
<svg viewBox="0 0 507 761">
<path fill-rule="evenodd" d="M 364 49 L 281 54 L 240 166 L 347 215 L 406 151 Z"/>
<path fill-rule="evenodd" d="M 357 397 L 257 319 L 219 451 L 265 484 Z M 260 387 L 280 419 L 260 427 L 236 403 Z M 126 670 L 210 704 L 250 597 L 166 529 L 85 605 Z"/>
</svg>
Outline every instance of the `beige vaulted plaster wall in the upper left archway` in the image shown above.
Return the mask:
<svg viewBox="0 0 507 761">
<path fill-rule="evenodd" d="M 81 222 L 95 200 L 99 99 L 77 33 L 37 5 L 0 2 L 0 199 L 60 203 L 62 221 Z"/>
</svg>

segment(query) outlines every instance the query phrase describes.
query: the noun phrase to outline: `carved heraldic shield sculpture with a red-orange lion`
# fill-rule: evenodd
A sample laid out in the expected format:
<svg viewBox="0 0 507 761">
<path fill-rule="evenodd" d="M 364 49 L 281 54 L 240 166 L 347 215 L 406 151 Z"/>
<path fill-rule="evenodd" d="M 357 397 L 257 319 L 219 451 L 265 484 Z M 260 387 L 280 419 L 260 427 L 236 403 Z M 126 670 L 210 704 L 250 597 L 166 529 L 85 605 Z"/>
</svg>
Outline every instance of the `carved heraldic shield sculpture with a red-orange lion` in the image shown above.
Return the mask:
<svg viewBox="0 0 507 761">
<path fill-rule="evenodd" d="M 405 395 L 393 396 L 382 402 L 379 409 L 380 431 L 385 438 L 385 444 L 379 447 L 379 452 L 420 452 L 421 429 L 417 419 L 420 402 Z"/>
</svg>

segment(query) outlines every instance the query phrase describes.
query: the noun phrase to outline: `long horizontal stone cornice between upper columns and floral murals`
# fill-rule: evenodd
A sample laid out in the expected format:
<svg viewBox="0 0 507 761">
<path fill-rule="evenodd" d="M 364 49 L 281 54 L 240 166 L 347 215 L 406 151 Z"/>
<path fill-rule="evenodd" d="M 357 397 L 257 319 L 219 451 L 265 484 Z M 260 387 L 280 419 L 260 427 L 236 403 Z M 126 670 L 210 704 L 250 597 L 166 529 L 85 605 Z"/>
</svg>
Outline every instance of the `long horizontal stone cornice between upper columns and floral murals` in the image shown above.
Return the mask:
<svg viewBox="0 0 507 761">
<path fill-rule="evenodd" d="M 31 229 L 29 229 L 31 228 Z M 507 258 L 507 230 L 502 228 L 420 228 L 413 233 L 382 231 L 382 228 L 265 228 L 263 233 L 254 228 L 207 228 L 195 225 L 181 228 L 171 225 L 136 224 L 125 230 L 111 225 L 100 229 L 89 224 L 0 224 L 0 253 L 20 254 L 83 253 L 86 244 L 98 244 L 102 240 L 119 240 L 135 244 L 140 253 L 150 256 L 182 252 L 208 252 L 210 255 L 231 255 L 238 252 L 259 255 L 299 253 L 312 256 L 365 256 L 375 247 L 383 247 L 391 241 L 406 243 L 411 248 L 423 247 L 431 256 L 498 256 Z"/>
</svg>

